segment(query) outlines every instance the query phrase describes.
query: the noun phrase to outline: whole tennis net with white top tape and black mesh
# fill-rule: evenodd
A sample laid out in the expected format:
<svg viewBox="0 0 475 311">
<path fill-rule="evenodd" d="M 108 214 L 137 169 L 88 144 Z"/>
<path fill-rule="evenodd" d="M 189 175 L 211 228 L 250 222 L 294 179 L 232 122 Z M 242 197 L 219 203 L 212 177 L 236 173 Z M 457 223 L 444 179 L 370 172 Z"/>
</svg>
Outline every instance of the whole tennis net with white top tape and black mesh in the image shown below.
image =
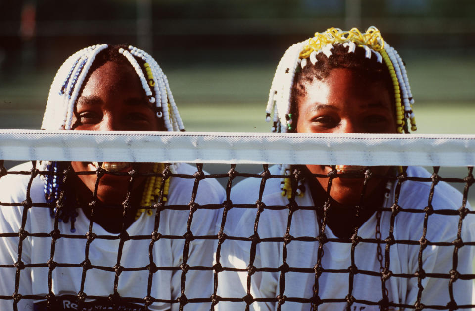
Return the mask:
<svg viewBox="0 0 475 311">
<path fill-rule="evenodd" d="M 5 310 L 475 307 L 473 135 L 0 130 L 0 159 Z M 99 203 L 108 176 L 123 201 Z M 134 205 L 140 178 L 160 186 Z M 111 233 L 110 209 L 142 214 Z"/>
</svg>

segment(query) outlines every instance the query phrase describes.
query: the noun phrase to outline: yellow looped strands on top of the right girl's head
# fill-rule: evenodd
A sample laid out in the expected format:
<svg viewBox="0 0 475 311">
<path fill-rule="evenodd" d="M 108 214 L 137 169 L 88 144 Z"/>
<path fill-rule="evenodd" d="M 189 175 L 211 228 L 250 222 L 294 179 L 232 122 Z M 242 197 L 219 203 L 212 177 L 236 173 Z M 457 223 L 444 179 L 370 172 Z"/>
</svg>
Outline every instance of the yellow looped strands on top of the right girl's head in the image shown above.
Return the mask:
<svg viewBox="0 0 475 311">
<path fill-rule="evenodd" d="M 353 27 L 349 31 L 342 31 L 339 28 L 329 28 L 323 33 L 316 32 L 313 38 L 308 39 L 308 44 L 300 52 L 300 58 L 308 58 L 313 51 L 321 50 L 327 44 L 337 44 L 352 41 L 359 46 L 366 45 L 374 51 L 384 50 L 384 39 L 380 31 L 374 27 L 369 27 L 365 33 L 361 33 L 358 28 Z"/>
</svg>

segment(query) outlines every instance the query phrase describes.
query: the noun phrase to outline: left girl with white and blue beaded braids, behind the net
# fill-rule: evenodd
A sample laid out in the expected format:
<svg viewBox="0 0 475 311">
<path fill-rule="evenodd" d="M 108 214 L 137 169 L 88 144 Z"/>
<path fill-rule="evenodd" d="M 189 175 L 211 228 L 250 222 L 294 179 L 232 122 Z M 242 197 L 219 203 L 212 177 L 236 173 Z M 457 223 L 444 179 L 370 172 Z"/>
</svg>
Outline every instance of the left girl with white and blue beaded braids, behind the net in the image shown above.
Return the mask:
<svg viewBox="0 0 475 311">
<path fill-rule="evenodd" d="M 157 62 L 136 47 L 107 44 L 82 49 L 59 68 L 42 128 L 184 130 Z M 32 207 L 0 208 L 1 233 L 28 232 L 21 241 L 0 238 L 0 265 L 10 265 L 0 268 L 0 310 L 209 310 L 202 300 L 210 301 L 213 273 L 190 267 L 212 266 L 213 242 L 192 237 L 212 234 L 216 213 L 188 205 L 220 204 L 224 190 L 213 178 L 179 177 L 196 171 L 41 161 L 36 172 L 43 174 L 2 177 L 0 202 L 28 197 Z M 162 208 L 146 209 L 153 206 Z"/>
</svg>

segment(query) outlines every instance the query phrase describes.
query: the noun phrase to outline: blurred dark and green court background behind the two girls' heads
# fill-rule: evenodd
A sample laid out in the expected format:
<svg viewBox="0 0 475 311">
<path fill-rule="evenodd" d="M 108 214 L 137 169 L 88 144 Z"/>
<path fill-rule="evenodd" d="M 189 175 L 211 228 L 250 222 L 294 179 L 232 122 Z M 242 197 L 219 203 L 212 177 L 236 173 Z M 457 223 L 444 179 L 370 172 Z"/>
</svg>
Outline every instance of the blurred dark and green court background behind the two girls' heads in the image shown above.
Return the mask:
<svg viewBox="0 0 475 311">
<path fill-rule="evenodd" d="M 285 49 L 331 26 L 375 25 L 406 62 L 417 133 L 475 133 L 475 1 L 456 3 L 0 0 L 0 127 L 40 128 L 61 63 L 106 42 L 154 55 L 188 131 L 268 132 L 264 109 Z"/>
</svg>

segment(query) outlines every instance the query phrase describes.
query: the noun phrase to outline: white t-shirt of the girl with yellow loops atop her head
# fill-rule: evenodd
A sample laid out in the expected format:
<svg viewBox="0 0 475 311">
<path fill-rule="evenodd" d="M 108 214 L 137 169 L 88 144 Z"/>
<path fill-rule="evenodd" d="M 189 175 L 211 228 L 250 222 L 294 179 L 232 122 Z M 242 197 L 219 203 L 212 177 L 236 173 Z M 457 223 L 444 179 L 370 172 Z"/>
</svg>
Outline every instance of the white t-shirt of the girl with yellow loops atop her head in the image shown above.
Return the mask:
<svg viewBox="0 0 475 311">
<path fill-rule="evenodd" d="M 271 168 L 272 174 L 278 174 L 277 168 Z M 429 177 L 430 174 L 420 167 L 409 167 L 408 176 Z M 270 182 L 269 182 L 270 181 Z M 262 202 L 268 207 L 285 206 L 289 203 L 281 195 L 279 179 L 268 180 L 269 186 L 264 191 Z M 236 185 L 231 191 L 233 204 L 253 204 L 258 199 L 260 178 L 248 178 Z M 303 197 L 297 197 L 298 206 L 312 207 L 314 202 L 311 191 L 306 184 Z M 423 210 L 428 204 L 430 182 L 404 181 L 401 186 L 398 204 L 404 209 Z M 386 206 L 394 203 L 396 186 L 393 185 Z M 276 191 L 277 190 L 277 191 Z M 434 210 L 456 210 L 462 206 L 462 195 L 445 182 L 435 186 L 432 199 Z M 467 204 L 467 208 L 470 206 Z M 232 208 L 229 210 L 224 233 L 228 236 L 250 237 L 254 234 L 256 209 Z M 289 221 L 289 210 L 264 209 L 260 214 L 257 233 L 260 239 L 284 237 Z M 381 238 L 389 236 L 391 227 L 391 212 L 382 212 L 380 219 Z M 396 241 L 415 241 L 415 245 L 396 243 L 389 247 L 388 258 L 383 258 L 383 264 L 389 260 L 389 270 L 392 276 L 386 281 L 389 302 L 402 304 L 390 307 L 389 310 L 404 310 L 404 305 L 414 306 L 418 296 L 417 277 L 402 277 L 398 274 L 412 274 L 419 270 L 419 240 L 423 236 L 425 213 L 399 212 L 394 218 L 393 234 Z M 452 242 L 457 238 L 459 215 L 432 214 L 427 218 L 426 239 L 430 242 Z M 462 222 L 461 238 L 464 242 L 475 241 L 475 215 L 468 214 Z M 371 216 L 358 230 L 358 236 L 363 239 L 374 239 L 376 233 L 376 213 Z M 311 304 L 300 299 L 312 298 L 315 285 L 315 270 L 319 243 L 312 238 L 320 234 L 316 213 L 313 210 L 296 210 L 290 222 L 289 234 L 293 237 L 286 246 L 286 263 L 293 271 L 282 274 L 274 271 L 257 271 L 251 276 L 250 294 L 254 298 L 276 298 L 281 292 L 287 301 L 281 305 L 281 310 L 297 311 L 310 310 Z M 326 237 L 336 238 L 332 230 L 326 227 Z M 309 237 L 310 241 L 308 241 Z M 307 241 L 299 241 L 301 240 Z M 272 240 L 257 244 L 254 266 L 259 268 L 279 268 L 284 263 L 284 243 Z M 385 253 L 386 244 L 381 244 Z M 458 259 L 454 259 L 454 245 L 429 245 L 422 251 L 422 267 L 426 273 L 443 273 L 448 276 L 450 270 L 456 267 L 461 274 L 471 274 L 472 259 L 475 246 L 463 246 L 458 250 Z M 246 269 L 250 261 L 251 242 L 226 239 L 222 244 L 220 262 L 223 267 Z M 323 244 L 321 267 L 325 271 L 318 279 L 318 297 L 326 300 L 318 310 L 346 310 L 346 297 L 350 294 L 348 268 L 351 266 L 352 244 L 342 242 L 327 242 Z M 377 259 L 377 244 L 360 242 L 354 249 L 354 264 L 359 271 L 371 271 L 373 275 L 357 273 L 353 276 L 351 295 L 356 300 L 351 310 L 380 310 L 374 304 L 383 298 L 382 284 L 379 275 L 380 262 Z M 436 275 L 435 275 L 436 276 Z M 242 298 L 247 294 L 248 272 L 223 271 L 218 273 L 218 295 L 221 297 Z M 280 285 L 281 283 L 281 285 Z M 420 302 L 425 305 L 445 306 L 450 301 L 449 278 L 425 277 L 422 279 Z M 458 305 L 472 304 L 473 280 L 457 279 L 453 283 L 454 299 Z M 333 302 L 331 299 L 339 299 Z M 292 301 L 293 300 L 293 301 Z M 343 301 L 343 302 L 341 302 Z M 373 305 L 368 302 L 373 302 Z M 218 310 L 244 310 L 244 302 L 220 302 Z M 392 309 L 391 309 L 392 308 Z M 254 302 L 251 310 L 276 310 L 277 303 Z M 408 309 L 412 310 L 412 309 Z M 426 309 L 424 309 L 426 310 Z M 427 309 L 432 310 L 432 309 Z M 459 309 L 460 310 L 460 309 Z"/>
</svg>

